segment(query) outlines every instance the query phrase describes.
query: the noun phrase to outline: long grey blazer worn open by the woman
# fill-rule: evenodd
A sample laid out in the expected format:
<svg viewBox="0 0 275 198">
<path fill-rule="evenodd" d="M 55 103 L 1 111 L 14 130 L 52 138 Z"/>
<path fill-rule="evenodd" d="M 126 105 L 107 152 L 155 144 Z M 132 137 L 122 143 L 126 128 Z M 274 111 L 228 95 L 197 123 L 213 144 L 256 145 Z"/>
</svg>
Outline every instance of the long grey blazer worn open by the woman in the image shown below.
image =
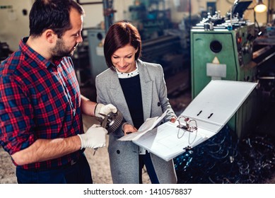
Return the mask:
<svg viewBox="0 0 275 198">
<path fill-rule="evenodd" d="M 144 110 L 144 120 L 168 113 L 163 122 L 175 116 L 167 98 L 167 88 L 160 64 L 151 64 L 137 60 L 141 80 L 141 95 Z M 133 124 L 131 115 L 119 83 L 117 73 L 111 69 L 103 71 L 95 78 L 97 101 L 103 104 L 112 104 L 122 112 L 124 122 Z M 139 146 L 131 141 L 117 141 L 124 136 L 119 127 L 109 136 L 109 158 L 113 183 L 139 183 Z M 177 176 L 173 161 L 164 161 L 151 153 L 153 166 L 158 180 L 162 184 L 177 183 Z"/>
</svg>

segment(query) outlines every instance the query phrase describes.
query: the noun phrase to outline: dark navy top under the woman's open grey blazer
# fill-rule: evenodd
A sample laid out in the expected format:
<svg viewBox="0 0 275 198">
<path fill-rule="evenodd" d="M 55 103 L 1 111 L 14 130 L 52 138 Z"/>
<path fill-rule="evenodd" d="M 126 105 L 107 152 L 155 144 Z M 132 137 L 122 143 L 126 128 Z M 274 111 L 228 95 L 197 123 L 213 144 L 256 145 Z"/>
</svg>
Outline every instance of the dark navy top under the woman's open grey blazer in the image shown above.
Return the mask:
<svg viewBox="0 0 275 198">
<path fill-rule="evenodd" d="M 131 120 L 134 122 L 134 127 L 139 129 L 141 124 L 144 123 L 141 81 L 139 75 L 130 78 L 119 78 L 119 83 L 122 86 L 122 91 L 131 114 Z"/>
</svg>

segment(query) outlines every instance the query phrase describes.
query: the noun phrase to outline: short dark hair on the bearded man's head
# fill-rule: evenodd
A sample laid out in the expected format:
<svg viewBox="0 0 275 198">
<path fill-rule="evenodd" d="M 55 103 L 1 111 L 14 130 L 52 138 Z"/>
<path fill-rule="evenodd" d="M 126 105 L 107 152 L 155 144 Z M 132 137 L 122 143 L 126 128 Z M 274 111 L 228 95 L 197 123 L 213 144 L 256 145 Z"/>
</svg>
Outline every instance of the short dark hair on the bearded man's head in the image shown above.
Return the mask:
<svg viewBox="0 0 275 198">
<path fill-rule="evenodd" d="M 66 30 L 71 29 L 71 8 L 84 15 L 81 5 L 73 0 L 36 0 L 30 10 L 30 35 L 37 37 L 52 29 L 58 37 L 62 37 Z"/>
</svg>

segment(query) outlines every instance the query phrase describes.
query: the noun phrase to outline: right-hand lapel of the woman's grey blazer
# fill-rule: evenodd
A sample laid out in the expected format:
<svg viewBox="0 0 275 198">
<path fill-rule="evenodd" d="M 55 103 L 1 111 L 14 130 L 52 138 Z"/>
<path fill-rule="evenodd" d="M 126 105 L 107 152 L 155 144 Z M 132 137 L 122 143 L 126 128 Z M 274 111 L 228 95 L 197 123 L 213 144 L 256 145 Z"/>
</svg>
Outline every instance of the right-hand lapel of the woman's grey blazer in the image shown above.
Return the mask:
<svg viewBox="0 0 275 198">
<path fill-rule="evenodd" d="M 151 81 L 148 75 L 148 70 L 146 66 L 138 60 L 139 64 L 139 77 L 141 79 L 141 95 L 142 95 L 142 105 L 144 107 L 144 120 L 151 117 L 151 105 L 152 105 L 152 86 L 153 81 Z"/>
</svg>

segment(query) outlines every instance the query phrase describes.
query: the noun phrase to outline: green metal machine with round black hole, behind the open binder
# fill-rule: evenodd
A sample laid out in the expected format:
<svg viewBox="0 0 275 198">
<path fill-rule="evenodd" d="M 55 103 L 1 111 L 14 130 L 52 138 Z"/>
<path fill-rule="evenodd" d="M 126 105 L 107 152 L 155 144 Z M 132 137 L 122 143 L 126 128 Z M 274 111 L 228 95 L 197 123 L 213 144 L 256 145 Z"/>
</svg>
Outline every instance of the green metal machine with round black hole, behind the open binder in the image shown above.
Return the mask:
<svg viewBox="0 0 275 198">
<path fill-rule="evenodd" d="M 242 19 L 251 2 L 234 4 L 228 18 L 221 18 L 216 12 L 192 28 L 192 98 L 212 79 L 257 81 L 257 66 L 252 62 L 254 24 Z M 253 91 L 228 122 L 240 138 L 255 127 L 258 94 Z"/>
</svg>

